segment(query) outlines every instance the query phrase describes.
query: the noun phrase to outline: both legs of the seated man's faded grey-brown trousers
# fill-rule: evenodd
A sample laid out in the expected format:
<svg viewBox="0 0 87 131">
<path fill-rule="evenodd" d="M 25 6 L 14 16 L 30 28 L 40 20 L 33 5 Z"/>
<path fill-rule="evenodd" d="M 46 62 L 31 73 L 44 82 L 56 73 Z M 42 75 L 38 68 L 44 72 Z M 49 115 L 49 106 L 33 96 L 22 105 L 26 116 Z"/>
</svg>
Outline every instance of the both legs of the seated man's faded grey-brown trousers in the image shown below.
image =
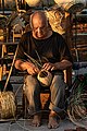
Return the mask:
<svg viewBox="0 0 87 131">
<path fill-rule="evenodd" d="M 24 80 L 25 95 L 28 100 L 29 112 L 38 112 L 41 109 L 40 91 L 41 85 L 36 76 L 27 75 Z M 64 78 L 61 74 L 53 75 L 50 85 L 49 109 L 60 112 L 65 108 L 65 86 Z"/>
</svg>

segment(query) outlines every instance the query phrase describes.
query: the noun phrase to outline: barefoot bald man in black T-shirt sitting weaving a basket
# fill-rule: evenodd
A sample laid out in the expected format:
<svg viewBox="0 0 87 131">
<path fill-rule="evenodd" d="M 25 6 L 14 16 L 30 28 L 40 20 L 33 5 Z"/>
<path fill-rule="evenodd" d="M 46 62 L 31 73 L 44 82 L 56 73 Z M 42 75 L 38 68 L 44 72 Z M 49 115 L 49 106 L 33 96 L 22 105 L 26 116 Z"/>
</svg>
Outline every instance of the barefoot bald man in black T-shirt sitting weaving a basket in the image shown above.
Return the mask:
<svg viewBox="0 0 87 131">
<path fill-rule="evenodd" d="M 32 32 L 25 33 L 18 45 L 15 68 L 21 71 L 27 71 L 25 78 L 25 94 L 29 104 L 29 112 L 34 115 L 33 124 L 40 126 L 40 87 L 37 80 L 40 71 L 34 61 L 42 64 L 41 69 L 52 73 L 50 84 L 51 100 L 49 105 L 48 128 L 58 128 L 59 121 L 57 114 L 64 109 L 65 83 L 63 80 L 63 70 L 72 66 L 71 53 L 63 37 L 52 32 L 48 26 L 48 20 L 42 11 L 36 11 L 30 17 Z M 34 58 L 33 61 L 27 57 Z"/>
</svg>

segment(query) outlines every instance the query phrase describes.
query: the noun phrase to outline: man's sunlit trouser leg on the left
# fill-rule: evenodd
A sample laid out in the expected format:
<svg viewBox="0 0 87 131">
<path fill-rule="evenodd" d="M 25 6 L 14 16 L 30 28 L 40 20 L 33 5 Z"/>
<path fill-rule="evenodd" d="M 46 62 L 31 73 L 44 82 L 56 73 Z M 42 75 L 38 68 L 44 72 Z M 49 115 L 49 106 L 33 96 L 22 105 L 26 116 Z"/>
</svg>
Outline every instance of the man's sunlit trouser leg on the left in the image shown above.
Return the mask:
<svg viewBox="0 0 87 131">
<path fill-rule="evenodd" d="M 27 75 L 25 78 L 25 95 L 28 100 L 29 112 L 37 112 L 40 110 L 40 86 L 36 78 Z"/>
</svg>

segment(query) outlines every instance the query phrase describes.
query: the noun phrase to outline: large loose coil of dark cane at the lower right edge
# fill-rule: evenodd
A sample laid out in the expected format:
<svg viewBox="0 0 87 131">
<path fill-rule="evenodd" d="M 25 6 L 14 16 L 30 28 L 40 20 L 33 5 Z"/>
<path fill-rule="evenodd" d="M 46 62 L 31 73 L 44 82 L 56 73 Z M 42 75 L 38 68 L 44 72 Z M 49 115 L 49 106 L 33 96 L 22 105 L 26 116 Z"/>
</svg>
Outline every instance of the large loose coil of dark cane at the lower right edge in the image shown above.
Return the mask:
<svg viewBox="0 0 87 131">
<path fill-rule="evenodd" d="M 87 93 L 75 94 L 71 97 L 67 115 L 75 124 L 87 128 Z"/>
</svg>

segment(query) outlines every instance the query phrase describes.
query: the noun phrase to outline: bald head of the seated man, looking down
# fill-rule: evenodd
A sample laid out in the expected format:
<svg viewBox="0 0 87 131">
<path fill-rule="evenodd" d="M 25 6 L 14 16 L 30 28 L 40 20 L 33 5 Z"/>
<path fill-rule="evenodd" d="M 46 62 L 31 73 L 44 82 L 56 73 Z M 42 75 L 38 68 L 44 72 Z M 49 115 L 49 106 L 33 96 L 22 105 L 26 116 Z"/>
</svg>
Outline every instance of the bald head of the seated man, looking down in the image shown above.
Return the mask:
<svg viewBox="0 0 87 131">
<path fill-rule="evenodd" d="M 36 11 L 32 14 L 30 26 L 35 38 L 45 39 L 49 37 L 48 20 L 44 11 Z"/>
</svg>

